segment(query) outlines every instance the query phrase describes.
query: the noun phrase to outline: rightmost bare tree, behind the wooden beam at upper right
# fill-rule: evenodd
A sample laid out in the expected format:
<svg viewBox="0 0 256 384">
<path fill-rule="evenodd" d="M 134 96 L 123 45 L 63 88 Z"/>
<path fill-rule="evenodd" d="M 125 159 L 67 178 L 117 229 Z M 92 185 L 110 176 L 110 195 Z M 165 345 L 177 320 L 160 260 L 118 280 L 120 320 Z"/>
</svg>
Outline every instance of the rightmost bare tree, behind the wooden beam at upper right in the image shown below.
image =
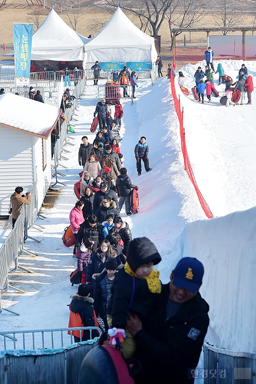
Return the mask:
<svg viewBox="0 0 256 384">
<path fill-rule="evenodd" d="M 241 14 L 241 8 L 235 9 L 228 0 L 217 0 L 215 5 L 218 6 L 218 11 L 214 11 L 212 16 L 219 27 L 242 25 L 244 17 Z M 222 33 L 226 35 L 227 31 L 223 30 Z"/>
</svg>

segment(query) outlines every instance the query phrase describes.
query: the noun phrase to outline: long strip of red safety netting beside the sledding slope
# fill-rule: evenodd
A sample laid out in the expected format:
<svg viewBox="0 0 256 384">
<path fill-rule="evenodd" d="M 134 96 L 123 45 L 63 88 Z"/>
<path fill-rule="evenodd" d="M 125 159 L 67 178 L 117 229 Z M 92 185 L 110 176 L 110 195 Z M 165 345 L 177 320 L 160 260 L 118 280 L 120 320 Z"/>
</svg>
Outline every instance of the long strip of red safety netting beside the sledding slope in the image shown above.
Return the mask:
<svg viewBox="0 0 256 384">
<path fill-rule="evenodd" d="M 173 65 L 173 63 L 172 63 L 172 65 Z M 171 69 L 171 74 L 172 74 L 172 69 Z M 186 141 L 185 141 L 185 133 L 184 133 L 184 128 L 183 128 L 183 108 L 181 110 L 181 103 L 180 103 L 180 100 L 178 100 L 177 95 L 176 95 L 173 76 L 171 76 L 171 78 L 170 78 L 170 85 L 171 85 L 172 96 L 174 99 L 174 107 L 175 107 L 175 110 L 176 110 L 176 113 L 178 116 L 178 120 L 180 123 L 181 150 L 182 150 L 182 154 L 183 154 L 185 170 L 187 171 L 189 178 L 192 181 L 195 192 L 198 196 L 199 202 L 201 204 L 201 207 L 203 208 L 205 215 L 208 217 L 208 219 L 212 219 L 214 216 L 213 216 L 213 214 L 209 208 L 209 205 L 205 201 L 202 193 L 200 192 L 200 190 L 196 184 L 195 178 L 194 178 L 190 158 L 189 158 L 187 147 L 186 147 Z"/>
</svg>

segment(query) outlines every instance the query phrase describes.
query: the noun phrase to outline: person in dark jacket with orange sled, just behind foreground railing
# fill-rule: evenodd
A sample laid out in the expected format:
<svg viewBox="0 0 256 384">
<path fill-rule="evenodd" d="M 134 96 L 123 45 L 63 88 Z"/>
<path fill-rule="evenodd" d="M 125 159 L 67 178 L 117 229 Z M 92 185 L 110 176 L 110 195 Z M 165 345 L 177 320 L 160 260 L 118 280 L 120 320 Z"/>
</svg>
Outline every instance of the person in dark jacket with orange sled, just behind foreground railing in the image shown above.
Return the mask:
<svg viewBox="0 0 256 384">
<path fill-rule="evenodd" d="M 69 322 L 68 328 L 73 327 L 95 327 L 94 320 L 94 299 L 90 297 L 91 288 L 87 284 L 81 284 L 75 295 L 71 295 L 71 303 L 69 304 Z M 70 335 L 70 331 L 67 332 Z M 80 331 L 72 331 L 75 343 L 80 341 L 90 340 L 90 330 L 81 331 L 82 338 L 80 339 Z M 98 331 L 92 330 L 92 339 L 98 336 Z"/>
</svg>

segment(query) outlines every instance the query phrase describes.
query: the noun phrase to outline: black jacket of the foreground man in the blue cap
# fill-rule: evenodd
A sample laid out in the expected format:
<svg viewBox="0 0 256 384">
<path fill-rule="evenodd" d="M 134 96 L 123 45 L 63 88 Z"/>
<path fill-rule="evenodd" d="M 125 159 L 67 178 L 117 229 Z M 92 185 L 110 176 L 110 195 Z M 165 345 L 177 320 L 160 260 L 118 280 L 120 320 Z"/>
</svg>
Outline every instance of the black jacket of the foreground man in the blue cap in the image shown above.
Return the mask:
<svg viewBox="0 0 256 384">
<path fill-rule="evenodd" d="M 142 363 L 138 383 L 194 382 L 188 379 L 188 370 L 196 368 L 199 361 L 209 325 L 209 305 L 198 292 L 165 321 L 169 293 L 169 284 L 162 286 L 154 308 L 142 320 L 143 328 L 134 335 L 134 357 Z"/>
</svg>

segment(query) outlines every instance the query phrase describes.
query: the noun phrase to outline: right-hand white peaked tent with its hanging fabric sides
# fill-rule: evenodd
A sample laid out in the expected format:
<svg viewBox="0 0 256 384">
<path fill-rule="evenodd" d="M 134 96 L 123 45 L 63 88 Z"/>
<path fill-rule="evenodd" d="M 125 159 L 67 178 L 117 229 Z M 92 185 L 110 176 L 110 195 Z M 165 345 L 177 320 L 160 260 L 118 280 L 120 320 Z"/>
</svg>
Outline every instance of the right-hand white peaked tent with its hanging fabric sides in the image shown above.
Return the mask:
<svg viewBox="0 0 256 384">
<path fill-rule="evenodd" d="M 140 31 L 118 7 L 105 27 L 85 44 L 86 63 L 154 62 L 155 39 Z"/>
</svg>

